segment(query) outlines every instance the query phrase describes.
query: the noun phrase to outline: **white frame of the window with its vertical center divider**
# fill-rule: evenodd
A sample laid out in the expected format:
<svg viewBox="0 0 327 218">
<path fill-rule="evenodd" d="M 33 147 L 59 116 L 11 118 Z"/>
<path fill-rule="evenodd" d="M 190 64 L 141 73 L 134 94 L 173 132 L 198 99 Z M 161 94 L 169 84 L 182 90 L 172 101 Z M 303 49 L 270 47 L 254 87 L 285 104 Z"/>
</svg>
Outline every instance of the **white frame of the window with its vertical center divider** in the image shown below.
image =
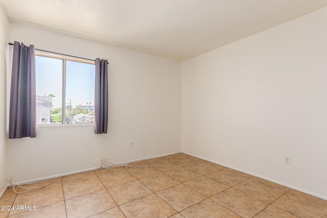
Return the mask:
<svg viewBox="0 0 327 218">
<path fill-rule="evenodd" d="M 86 64 L 94 64 L 95 61 L 87 60 L 83 58 L 58 55 L 51 52 L 39 52 L 35 51 L 35 56 L 46 57 L 46 58 L 55 58 L 62 60 L 62 102 L 61 102 L 61 124 L 38 124 L 36 122 L 36 126 L 65 126 L 65 125 L 94 125 L 94 123 L 79 123 L 79 124 L 65 124 L 64 120 L 66 119 L 66 61 L 75 61 Z"/>
</svg>

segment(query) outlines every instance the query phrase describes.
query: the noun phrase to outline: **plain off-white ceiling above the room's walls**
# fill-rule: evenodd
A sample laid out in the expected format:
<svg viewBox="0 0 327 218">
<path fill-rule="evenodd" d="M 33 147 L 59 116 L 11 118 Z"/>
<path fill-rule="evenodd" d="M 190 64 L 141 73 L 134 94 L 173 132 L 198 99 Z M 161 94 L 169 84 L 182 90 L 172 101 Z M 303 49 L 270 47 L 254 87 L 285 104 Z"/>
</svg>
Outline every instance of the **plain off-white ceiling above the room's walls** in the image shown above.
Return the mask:
<svg viewBox="0 0 327 218">
<path fill-rule="evenodd" d="M 12 21 L 183 61 L 327 0 L 0 0 Z"/>
</svg>

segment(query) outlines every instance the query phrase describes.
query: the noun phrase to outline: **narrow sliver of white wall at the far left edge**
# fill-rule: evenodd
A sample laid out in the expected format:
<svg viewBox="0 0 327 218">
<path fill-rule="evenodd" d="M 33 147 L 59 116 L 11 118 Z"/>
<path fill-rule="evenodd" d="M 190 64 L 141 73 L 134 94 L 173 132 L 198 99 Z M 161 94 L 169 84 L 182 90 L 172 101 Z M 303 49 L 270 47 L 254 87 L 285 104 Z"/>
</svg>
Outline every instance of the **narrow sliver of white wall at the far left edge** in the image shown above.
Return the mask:
<svg viewBox="0 0 327 218">
<path fill-rule="evenodd" d="M 0 6 L 0 196 L 7 186 L 7 77 L 9 72 L 9 19 Z"/>
</svg>

